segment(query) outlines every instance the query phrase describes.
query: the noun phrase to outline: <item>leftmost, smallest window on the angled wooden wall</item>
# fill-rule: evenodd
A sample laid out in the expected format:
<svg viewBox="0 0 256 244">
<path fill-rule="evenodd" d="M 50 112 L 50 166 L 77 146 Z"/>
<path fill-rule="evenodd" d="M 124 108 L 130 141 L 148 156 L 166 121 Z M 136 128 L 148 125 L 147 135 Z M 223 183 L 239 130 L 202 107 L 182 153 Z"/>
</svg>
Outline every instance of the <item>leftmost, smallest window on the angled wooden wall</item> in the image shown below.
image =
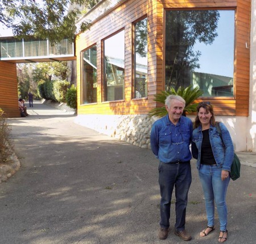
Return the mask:
<svg viewBox="0 0 256 244">
<path fill-rule="evenodd" d="M 97 47 L 82 52 L 82 101 L 97 102 Z"/>
</svg>

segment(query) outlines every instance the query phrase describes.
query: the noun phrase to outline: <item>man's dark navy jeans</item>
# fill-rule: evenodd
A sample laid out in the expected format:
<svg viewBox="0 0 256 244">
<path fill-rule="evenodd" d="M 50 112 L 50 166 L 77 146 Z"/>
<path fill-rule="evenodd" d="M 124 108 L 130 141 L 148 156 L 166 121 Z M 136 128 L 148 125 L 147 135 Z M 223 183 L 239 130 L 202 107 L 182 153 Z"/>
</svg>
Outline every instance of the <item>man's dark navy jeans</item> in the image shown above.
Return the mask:
<svg viewBox="0 0 256 244">
<path fill-rule="evenodd" d="M 160 226 L 170 227 L 170 210 L 172 191 L 175 187 L 176 196 L 176 223 L 175 229 L 182 231 L 185 229 L 185 216 L 188 202 L 188 190 L 191 185 L 191 166 L 190 163 L 170 164 L 159 163 L 159 185 L 160 185 Z"/>
</svg>

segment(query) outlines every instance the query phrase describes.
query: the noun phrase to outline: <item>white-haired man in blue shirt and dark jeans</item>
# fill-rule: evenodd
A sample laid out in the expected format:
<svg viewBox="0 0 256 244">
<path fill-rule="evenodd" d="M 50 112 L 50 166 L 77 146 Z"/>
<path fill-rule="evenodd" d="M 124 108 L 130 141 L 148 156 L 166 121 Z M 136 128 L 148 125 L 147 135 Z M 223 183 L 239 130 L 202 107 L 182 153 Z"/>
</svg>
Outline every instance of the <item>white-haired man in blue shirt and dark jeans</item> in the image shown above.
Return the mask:
<svg viewBox="0 0 256 244">
<path fill-rule="evenodd" d="M 176 222 L 174 233 L 184 241 L 190 241 L 191 235 L 185 231 L 185 215 L 188 202 L 188 190 L 191 185 L 192 158 L 191 143 L 193 124 L 191 119 L 183 117 L 185 100 L 180 96 L 166 98 L 168 114 L 156 121 L 151 130 L 151 149 L 159 163 L 160 185 L 160 229 L 159 239 L 166 239 L 170 227 L 170 209 L 172 191 L 175 187 Z"/>
</svg>

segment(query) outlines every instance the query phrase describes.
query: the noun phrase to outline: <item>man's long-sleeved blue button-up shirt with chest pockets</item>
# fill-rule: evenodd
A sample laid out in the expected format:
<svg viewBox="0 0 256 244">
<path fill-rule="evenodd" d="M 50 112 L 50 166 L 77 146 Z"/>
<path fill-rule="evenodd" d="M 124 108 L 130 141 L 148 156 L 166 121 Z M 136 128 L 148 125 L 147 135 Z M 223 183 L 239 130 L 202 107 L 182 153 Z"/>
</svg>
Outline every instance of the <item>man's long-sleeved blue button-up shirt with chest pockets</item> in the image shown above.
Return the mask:
<svg viewBox="0 0 256 244">
<path fill-rule="evenodd" d="M 189 150 L 193 132 L 191 119 L 181 116 L 174 125 L 168 114 L 155 121 L 150 134 L 152 152 L 163 163 L 191 160 Z"/>
</svg>

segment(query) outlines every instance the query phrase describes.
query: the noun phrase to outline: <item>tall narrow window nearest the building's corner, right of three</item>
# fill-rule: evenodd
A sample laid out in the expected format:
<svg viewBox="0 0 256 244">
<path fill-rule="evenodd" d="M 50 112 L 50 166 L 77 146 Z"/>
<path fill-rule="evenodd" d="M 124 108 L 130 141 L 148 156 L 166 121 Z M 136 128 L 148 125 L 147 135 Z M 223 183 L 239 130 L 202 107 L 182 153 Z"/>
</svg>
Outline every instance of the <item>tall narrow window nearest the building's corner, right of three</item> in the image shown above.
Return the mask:
<svg viewBox="0 0 256 244">
<path fill-rule="evenodd" d="M 147 97 L 147 18 L 135 23 L 135 98 Z"/>
</svg>

